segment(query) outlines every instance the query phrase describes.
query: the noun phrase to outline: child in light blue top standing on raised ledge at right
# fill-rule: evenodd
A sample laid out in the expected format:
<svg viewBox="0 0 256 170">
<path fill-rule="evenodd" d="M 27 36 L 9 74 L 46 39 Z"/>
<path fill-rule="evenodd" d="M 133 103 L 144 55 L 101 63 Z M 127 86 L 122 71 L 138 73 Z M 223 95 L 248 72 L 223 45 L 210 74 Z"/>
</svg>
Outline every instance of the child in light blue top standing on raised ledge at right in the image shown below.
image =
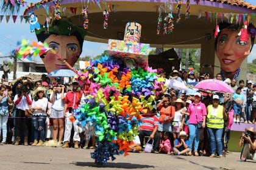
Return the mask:
<svg viewBox="0 0 256 170">
<path fill-rule="evenodd" d="M 235 94 L 233 95 L 233 109 L 234 109 L 234 120 L 233 122 L 240 123 L 240 115 L 241 115 L 241 109 L 243 106 L 244 97 L 241 95 L 241 87 L 238 87 L 236 89 Z"/>
</svg>

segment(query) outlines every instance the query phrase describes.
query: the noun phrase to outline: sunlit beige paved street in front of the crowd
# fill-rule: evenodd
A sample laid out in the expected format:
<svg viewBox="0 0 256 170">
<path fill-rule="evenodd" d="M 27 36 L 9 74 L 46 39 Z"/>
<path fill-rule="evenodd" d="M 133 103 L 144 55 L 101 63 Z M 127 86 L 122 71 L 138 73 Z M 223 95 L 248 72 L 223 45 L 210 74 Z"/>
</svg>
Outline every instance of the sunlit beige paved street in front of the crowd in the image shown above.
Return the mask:
<svg viewBox="0 0 256 170">
<path fill-rule="evenodd" d="M 0 169 L 96 169 L 88 149 L 0 146 Z M 240 162 L 238 152 L 226 158 L 130 153 L 117 155 L 102 169 L 253 169 L 256 163 Z"/>
</svg>

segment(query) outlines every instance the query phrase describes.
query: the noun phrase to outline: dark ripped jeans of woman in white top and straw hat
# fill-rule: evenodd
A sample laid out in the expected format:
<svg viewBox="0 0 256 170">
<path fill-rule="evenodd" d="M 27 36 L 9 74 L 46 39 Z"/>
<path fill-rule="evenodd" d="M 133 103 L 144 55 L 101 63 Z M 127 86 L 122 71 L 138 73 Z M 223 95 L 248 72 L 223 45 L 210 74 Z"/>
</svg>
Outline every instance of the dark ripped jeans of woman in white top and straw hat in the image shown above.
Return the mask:
<svg viewBox="0 0 256 170">
<path fill-rule="evenodd" d="M 46 121 L 46 115 L 32 116 L 32 123 L 34 125 L 34 140 L 39 139 L 44 141 L 45 121 Z"/>
</svg>

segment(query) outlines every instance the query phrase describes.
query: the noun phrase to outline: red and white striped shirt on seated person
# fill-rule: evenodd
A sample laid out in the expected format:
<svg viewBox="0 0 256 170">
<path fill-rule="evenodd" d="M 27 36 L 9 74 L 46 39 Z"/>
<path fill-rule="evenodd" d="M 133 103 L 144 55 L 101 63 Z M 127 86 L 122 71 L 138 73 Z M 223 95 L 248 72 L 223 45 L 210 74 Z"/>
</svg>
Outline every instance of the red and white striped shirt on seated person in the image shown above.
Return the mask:
<svg viewBox="0 0 256 170">
<path fill-rule="evenodd" d="M 144 131 L 154 131 L 154 128 L 158 127 L 158 124 L 159 122 L 157 116 L 153 115 L 145 117 L 143 115 L 143 117 L 141 118 L 140 129 Z"/>
</svg>

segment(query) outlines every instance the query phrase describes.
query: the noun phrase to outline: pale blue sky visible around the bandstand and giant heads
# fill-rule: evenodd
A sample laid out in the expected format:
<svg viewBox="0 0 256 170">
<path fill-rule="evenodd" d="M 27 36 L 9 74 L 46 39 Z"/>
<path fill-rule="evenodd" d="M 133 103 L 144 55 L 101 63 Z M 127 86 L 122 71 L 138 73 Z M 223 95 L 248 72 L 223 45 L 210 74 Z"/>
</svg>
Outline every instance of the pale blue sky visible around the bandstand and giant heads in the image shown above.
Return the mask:
<svg viewBox="0 0 256 170">
<path fill-rule="evenodd" d="M 32 2 L 38 1 L 39 0 L 32 0 Z M 246 0 L 246 2 L 256 5 L 256 0 Z M 21 15 L 22 12 L 23 10 L 21 10 L 18 15 Z M 0 23 L 0 64 L 3 60 L 1 56 L 9 56 L 10 52 L 12 52 L 12 50 L 16 48 L 16 43 L 18 41 L 21 41 L 22 39 L 27 39 L 30 41 L 37 40 L 35 33 L 31 33 L 29 30 L 29 23 L 25 23 L 24 19 L 21 22 L 20 17 L 16 19 L 15 23 L 13 23 L 12 18 L 10 18 L 9 22 L 7 23 L 4 17 L 4 19 L 2 19 L 2 22 Z M 85 41 L 81 56 L 94 57 L 97 55 L 101 55 L 104 50 L 107 50 L 107 44 Z M 251 61 L 254 59 L 256 59 L 256 45 L 254 46 L 251 55 L 249 55 L 249 57 L 247 58 L 247 61 L 251 63 Z M 40 58 L 38 57 L 36 60 L 40 61 Z"/>
</svg>

